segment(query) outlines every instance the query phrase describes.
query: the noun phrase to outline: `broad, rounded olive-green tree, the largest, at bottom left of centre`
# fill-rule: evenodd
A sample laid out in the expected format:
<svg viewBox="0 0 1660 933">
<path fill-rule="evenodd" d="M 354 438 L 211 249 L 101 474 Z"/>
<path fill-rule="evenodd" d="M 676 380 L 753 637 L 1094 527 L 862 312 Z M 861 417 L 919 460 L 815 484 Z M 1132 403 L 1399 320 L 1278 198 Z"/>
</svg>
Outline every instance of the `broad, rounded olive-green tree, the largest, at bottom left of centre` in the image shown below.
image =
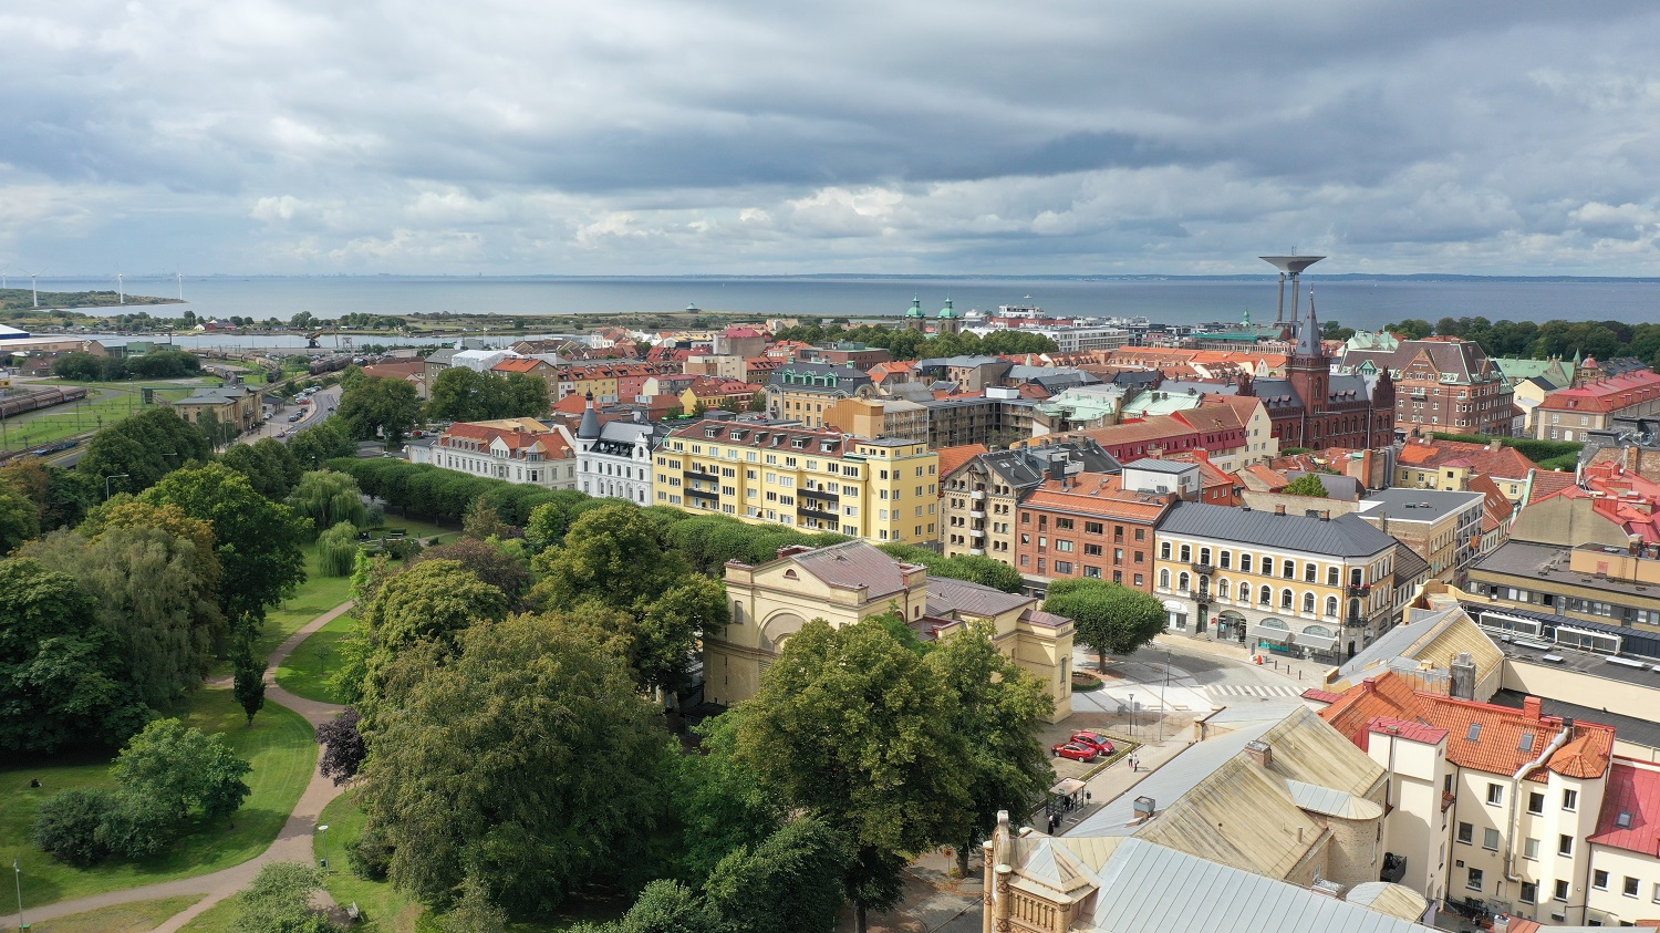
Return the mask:
<svg viewBox="0 0 1660 933">
<path fill-rule="evenodd" d="M 516 915 L 626 883 L 667 745 L 622 661 L 535 616 L 471 628 L 460 647 L 447 666 L 395 662 L 400 692 L 367 735 L 359 802 L 393 845 L 392 882 L 445 906 L 475 877 Z"/>
</svg>

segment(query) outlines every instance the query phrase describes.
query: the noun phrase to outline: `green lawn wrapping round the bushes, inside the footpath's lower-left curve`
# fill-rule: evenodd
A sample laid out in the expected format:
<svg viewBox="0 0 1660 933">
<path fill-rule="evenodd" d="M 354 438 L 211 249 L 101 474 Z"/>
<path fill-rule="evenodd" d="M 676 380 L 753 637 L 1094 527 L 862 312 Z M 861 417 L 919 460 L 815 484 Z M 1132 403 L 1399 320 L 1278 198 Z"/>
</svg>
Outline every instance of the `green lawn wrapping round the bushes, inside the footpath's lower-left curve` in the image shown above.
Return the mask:
<svg viewBox="0 0 1660 933">
<path fill-rule="evenodd" d="M 184 722 L 209 734 L 224 734 L 231 749 L 254 765 L 247 775 L 252 794 L 231 818 L 232 827 L 198 823 L 171 852 L 144 862 L 75 868 L 28 843 L 35 812 L 46 797 L 75 787 L 115 787 L 110 779 L 113 755 L 56 755 L 0 767 L 0 785 L 8 789 L 0 794 L 0 863 L 18 860 L 25 905 L 206 875 L 247 862 L 277 838 L 317 767 L 310 724 L 290 709 L 266 704 L 254 725 L 247 727 L 247 716 L 231 691 L 219 689 L 198 691 Z M 28 787 L 32 777 L 40 779 L 40 789 Z"/>
</svg>

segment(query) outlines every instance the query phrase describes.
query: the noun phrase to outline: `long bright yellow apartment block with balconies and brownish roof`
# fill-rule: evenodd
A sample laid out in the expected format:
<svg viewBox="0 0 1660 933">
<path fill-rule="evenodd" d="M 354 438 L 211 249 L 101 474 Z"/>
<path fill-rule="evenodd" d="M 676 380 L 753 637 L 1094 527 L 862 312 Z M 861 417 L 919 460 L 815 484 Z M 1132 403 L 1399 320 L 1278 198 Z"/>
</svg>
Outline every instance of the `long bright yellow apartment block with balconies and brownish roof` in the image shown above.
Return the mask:
<svg viewBox="0 0 1660 933">
<path fill-rule="evenodd" d="M 672 432 L 654 468 L 656 505 L 881 543 L 938 538 L 940 455 L 918 440 L 710 417 Z"/>
</svg>

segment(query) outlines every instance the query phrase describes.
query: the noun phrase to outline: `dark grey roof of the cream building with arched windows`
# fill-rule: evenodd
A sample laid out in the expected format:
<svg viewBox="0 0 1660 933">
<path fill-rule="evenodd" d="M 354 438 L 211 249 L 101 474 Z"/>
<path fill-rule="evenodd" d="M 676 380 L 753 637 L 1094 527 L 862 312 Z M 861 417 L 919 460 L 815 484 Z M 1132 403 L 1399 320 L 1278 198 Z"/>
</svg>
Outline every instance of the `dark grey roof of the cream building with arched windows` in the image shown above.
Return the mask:
<svg viewBox="0 0 1660 933">
<path fill-rule="evenodd" d="M 1305 515 L 1275 515 L 1199 501 L 1175 503 L 1159 525 L 1159 533 L 1190 535 L 1331 558 L 1365 558 L 1396 545 L 1393 536 L 1366 525 L 1366 520 L 1358 515 L 1343 515 L 1326 521 Z"/>
</svg>

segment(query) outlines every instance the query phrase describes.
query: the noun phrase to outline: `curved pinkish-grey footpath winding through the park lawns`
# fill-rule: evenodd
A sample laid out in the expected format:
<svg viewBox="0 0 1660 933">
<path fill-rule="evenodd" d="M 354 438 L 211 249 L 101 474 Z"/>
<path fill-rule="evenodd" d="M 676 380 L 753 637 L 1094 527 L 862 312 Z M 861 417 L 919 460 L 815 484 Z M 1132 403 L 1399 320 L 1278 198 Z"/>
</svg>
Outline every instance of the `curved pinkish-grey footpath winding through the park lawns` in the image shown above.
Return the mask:
<svg viewBox="0 0 1660 933">
<path fill-rule="evenodd" d="M 276 682 L 276 671 L 287 661 L 289 654 L 300 646 L 312 633 L 332 623 L 339 616 L 345 614 L 352 608 L 350 603 L 342 603 L 334 609 L 317 616 L 315 619 L 305 623 L 305 626 L 289 636 L 276 651 L 271 652 L 269 667 L 266 669 L 266 699 L 279 706 L 286 706 L 294 712 L 305 717 L 312 725 L 319 725 L 339 716 L 345 707 L 317 702 L 304 697 L 297 697 Z M 322 759 L 322 745 L 317 747 L 317 759 Z M 154 885 L 143 885 L 138 888 L 123 888 L 118 891 L 105 891 L 101 895 L 90 895 L 85 898 L 75 898 L 66 901 L 58 901 L 46 906 L 28 908 L 27 920 L 30 923 L 40 923 L 42 920 L 51 920 L 55 916 L 68 916 L 71 913 L 83 913 L 88 910 L 100 910 L 105 906 L 115 906 L 120 903 L 131 903 L 141 900 L 154 898 L 171 898 L 179 895 L 206 895 L 203 900 L 196 901 L 184 911 L 168 918 L 161 926 L 156 926 L 154 933 L 174 933 L 186 923 L 196 918 L 196 915 L 217 905 L 224 898 L 241 891 L 254 880 L 259 868 L 269 862 L 305 862 L 310 863 L 312 855 L 312 835 L 315 835 L 317 817 L 322 808 L 329 805 L 330 800 L 340 795 L 344 787 L 335 787 L 334 780 L 324 777 L 315 765 L 312 767 L 310 784 L 305 785 L 305 792 L 300 794 L 299 804 L 289 813 L 289 820 L 282 823 L 282 832 L 277 833 L 277 840 L 271 843 L 269 848 L 242 862 L 241 865 L 232 865 L 231 868 L 222 868 L 209 875 L 198 875 L 194 878 L 179 878 L 174 882 L 159 882 Z M 324 895 L 327 896 L 327 895 Z M 330 901 L 332 903 L 332 901 Z M 0 928 L 17 928 L 17 915 L 0 918 Z"/>
</svg>

